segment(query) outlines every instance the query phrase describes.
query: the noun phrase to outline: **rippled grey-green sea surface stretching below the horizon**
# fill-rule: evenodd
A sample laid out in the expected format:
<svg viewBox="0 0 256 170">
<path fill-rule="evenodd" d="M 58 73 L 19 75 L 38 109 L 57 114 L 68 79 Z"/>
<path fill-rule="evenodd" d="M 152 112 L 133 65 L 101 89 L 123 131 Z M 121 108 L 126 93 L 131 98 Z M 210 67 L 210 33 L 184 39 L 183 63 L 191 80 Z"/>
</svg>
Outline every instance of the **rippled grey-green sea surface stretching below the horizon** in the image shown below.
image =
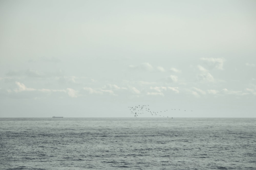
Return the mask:
<svg viewBox="0 0 256 170">
<path fill-rule="evenodd" d="M 0 118 L 0 169 L 256 169 L 256 118 Z"/>
</svg>

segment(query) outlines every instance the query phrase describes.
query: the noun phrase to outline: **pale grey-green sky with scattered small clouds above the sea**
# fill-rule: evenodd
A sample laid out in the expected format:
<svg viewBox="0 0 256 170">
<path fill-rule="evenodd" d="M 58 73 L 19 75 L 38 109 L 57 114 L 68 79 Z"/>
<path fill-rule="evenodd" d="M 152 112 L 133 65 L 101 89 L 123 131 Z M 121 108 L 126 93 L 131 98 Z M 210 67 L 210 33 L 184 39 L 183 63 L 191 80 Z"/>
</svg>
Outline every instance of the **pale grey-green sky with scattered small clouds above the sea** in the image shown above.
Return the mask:
<svg viewBox="0 0 256 170">
<path fill-rule="evenodd" d="M 256 117 L 255 7 L 0 0 L 0 117 Z"/>
</svg>

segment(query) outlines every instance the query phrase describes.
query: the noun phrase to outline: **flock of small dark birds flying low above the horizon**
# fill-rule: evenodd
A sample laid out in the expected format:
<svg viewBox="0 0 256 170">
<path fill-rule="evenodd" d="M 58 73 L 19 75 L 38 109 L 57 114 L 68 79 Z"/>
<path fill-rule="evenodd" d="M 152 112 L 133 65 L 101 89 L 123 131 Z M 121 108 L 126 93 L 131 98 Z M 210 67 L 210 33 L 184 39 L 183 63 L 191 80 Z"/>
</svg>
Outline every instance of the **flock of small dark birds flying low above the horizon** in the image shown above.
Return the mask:
<svg viewBox="0 0 256 170">
<path fill-rule="evenodd" d="M 130 111 L 131 111 L 131 114 L 134 114 L 134 117 L 138 117 L 139 114 L 143 114 L 145 112 L 148 112 L 150 113 L 152 116 L 153 115 L 156 115 L 156 116 L 160 116 L 160 117 L 165 117 L 163 116 L 164 112 L 168 111 L 168 110 L 163 110 L 163 111 L 158 111 L 158 112 L 155 112 L 155 111 L 152 111 L 148 108 L 149 105 L 138 105 L 138 106 L 129 106 L 128 108 L 130 108 Z M 180 109 L 172 109 L 172 110 L 180 110 Z M 184 110 L 186 111 L 186 110 Z M 193 111 L 193 110 L 191 110 Z M 163 113 L 161 115 L 161 113 Z M 168 117 L 168 116 L 166 116 Z"/>
</svg>

